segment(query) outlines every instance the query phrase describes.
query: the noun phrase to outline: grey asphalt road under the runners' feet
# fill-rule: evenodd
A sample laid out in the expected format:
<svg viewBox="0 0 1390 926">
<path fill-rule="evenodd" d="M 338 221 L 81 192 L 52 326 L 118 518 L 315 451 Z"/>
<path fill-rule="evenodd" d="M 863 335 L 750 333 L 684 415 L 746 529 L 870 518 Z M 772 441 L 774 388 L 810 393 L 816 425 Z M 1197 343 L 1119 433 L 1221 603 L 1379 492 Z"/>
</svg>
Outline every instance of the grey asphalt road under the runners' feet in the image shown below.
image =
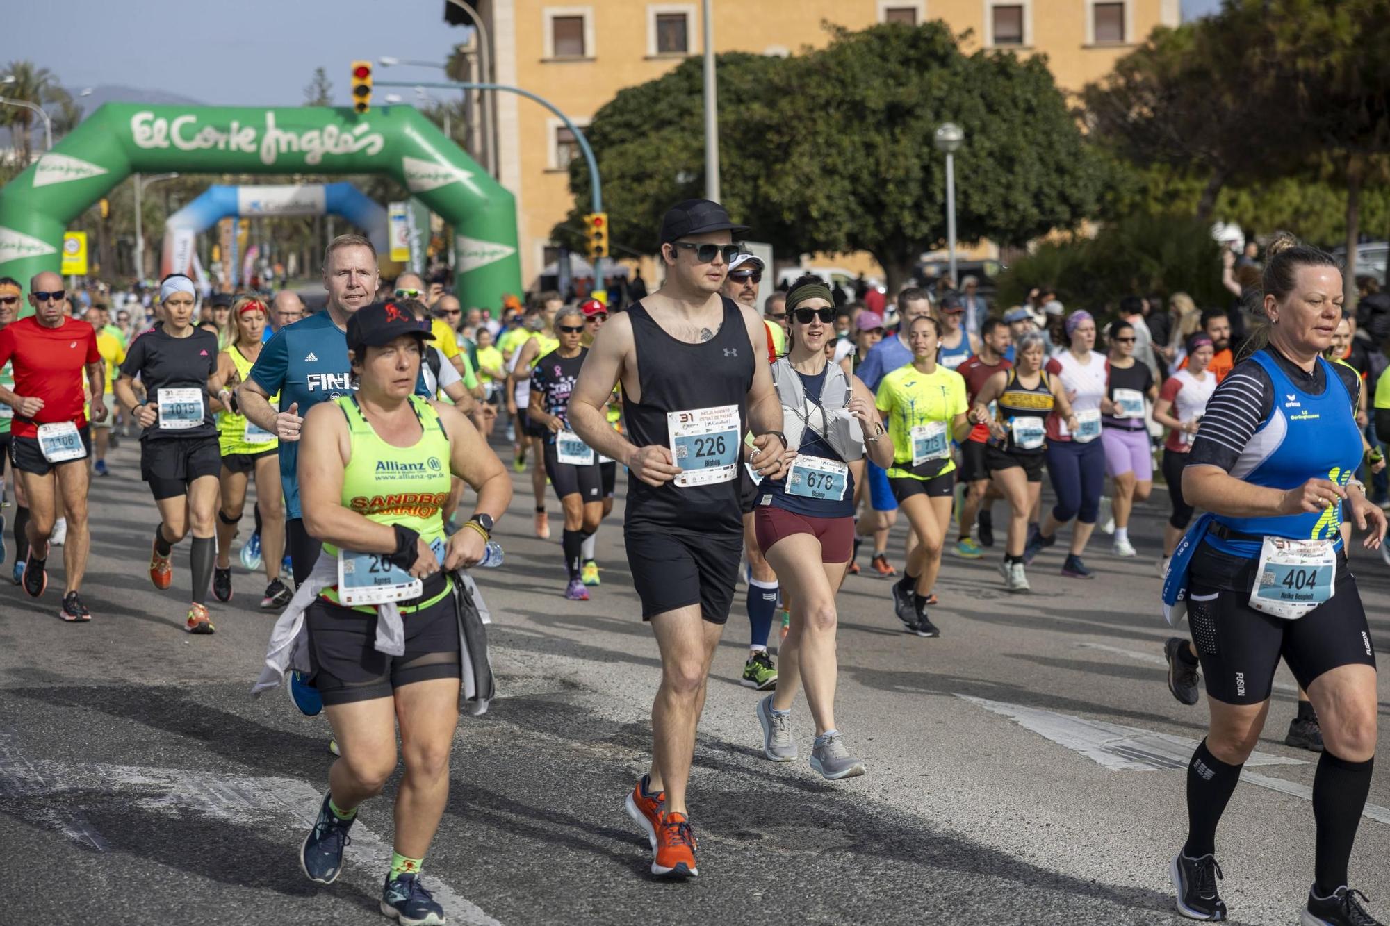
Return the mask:
<svg viewBox="0 0 1390 926">
<path fill-rule="evenodd" d="M 214 602 L 211 637 L 181 628 L 186 542 L 172 590 L 150 585 L 154 506 L 132 444 L 92 488 L 95 620 L 57 619 L 58 556 L 43 599 L 0 587 L 0 923 L 378 922 L 398 779 L 363 808 L 342 879 L 307 882 L 297 847 L 332 761 L 327 723 L 279 694 L 249 695 L 272 623 L 254 606 L 260 577 L 238 567 L 234 601 Z M 701 877 L 677 886 L 648 877 L 645 837 L 623 812 L 648 756 L 659 669 L 623 562 L 621 502 L 599 533 L 603 585 L 567 602 L 557 539 L 531 533 L 528 487 L 517 480 L 499 526 L 506 564 L 480 576 L 499 698 L 460 722 L 449 806 L 425 861 L 450 922 L 1180 922 L 1168 863 L 1186 833 L 1183 769 L 1207 715 L 1163 684 L 1154 509 L 1131 528 L 1138 560 L 1111 558 L 1097 534 L 1095 581 L 1061 577 L 1054 549 L 1030 569 L 1034 592 L 1009 596 L 998 548 L 980 562 L 948 556 L 933 612 L 940 640 L 902 633 L 885 581 L 851 577 L 837 716 L 869 773 L 842 783 L 805 763 L 803 701 L 794 719 L 803 759 L 760 756 L 759 695 L 738 684 L 739 595 L 691 784 Z M 901 537 L 894 552 L 901 564 Z M 1354 564 L 1384 651 L 1390 570 L 1373 556 Z M 1297 922 L 1312 880 L 1316 756 L 1283 745 L 1294 712 L 1283 669 L 1279 683 L 1218 833 L 1234 922 Z M 1384 765 L 1371 802 L 1352 884 L 1386 916 Z"/>
</svg>

